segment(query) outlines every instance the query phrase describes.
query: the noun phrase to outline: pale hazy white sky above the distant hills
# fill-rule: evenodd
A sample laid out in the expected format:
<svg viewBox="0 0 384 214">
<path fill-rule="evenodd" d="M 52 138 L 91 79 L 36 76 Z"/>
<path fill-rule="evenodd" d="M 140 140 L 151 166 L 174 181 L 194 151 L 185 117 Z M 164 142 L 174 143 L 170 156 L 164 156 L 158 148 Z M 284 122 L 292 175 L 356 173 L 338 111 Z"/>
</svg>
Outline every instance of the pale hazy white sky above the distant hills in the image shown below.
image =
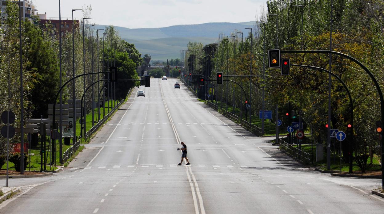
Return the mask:
<svg viewBox="0 0 384 214">
<path fill-rule="evenodd" d="M 59 17 L 59 0 L 33 0 L 38 13 Z M 62 19 L 91 5 L 91 22 L 126 28 L 158 28 L 207 22 L 255 21 L 266 0 L 61 0 Z M 75 19 L 82 16 L 74 12 Z"/>
</svg>

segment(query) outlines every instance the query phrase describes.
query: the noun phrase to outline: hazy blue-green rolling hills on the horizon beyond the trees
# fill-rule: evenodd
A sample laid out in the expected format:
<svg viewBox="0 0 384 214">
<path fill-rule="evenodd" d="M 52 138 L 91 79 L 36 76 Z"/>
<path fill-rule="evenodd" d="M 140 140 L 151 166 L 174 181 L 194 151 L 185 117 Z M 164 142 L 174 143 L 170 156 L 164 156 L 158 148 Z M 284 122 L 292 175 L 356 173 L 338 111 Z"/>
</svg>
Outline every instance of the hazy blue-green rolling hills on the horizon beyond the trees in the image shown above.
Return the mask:
<svg viewBox="0 0 384 214">
<path fill-rule="evenodd" d="M 150 54 L 152 60 L 180 58 L 180 50 L 187 49 L 189 41 L 209 44 L 216 42 L 220 33 L 230 35 L 235 29 L 254 28 L 253 21 L 243 23 L 204 23 L 199 25 L 174 25 L 164 28 L 124 28 L 115 26 L 122 39 L 135 44 L 142 55 Z M 99 26 L 105 28 L 105 25 Z M 99 29 L 100 29 L 99 28 Z"/>
</svg>

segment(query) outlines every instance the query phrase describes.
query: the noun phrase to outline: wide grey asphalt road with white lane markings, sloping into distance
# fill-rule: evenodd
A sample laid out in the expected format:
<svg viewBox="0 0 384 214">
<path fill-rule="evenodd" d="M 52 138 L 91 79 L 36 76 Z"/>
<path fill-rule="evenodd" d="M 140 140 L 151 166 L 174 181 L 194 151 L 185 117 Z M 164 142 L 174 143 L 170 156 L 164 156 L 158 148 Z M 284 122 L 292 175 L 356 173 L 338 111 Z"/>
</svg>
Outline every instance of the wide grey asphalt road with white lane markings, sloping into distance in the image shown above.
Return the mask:
<svg viewBox="0 0 384 214">
<path fill-rule="evenodd" d="M 10 180 L 22 191 L 0 213 L 383 212 L 381 180 L 304 168 L 175 81 L 141 87 L 64 171 Z M 189 166 L 176 165 L 180 141 Z"/>
</svg>

